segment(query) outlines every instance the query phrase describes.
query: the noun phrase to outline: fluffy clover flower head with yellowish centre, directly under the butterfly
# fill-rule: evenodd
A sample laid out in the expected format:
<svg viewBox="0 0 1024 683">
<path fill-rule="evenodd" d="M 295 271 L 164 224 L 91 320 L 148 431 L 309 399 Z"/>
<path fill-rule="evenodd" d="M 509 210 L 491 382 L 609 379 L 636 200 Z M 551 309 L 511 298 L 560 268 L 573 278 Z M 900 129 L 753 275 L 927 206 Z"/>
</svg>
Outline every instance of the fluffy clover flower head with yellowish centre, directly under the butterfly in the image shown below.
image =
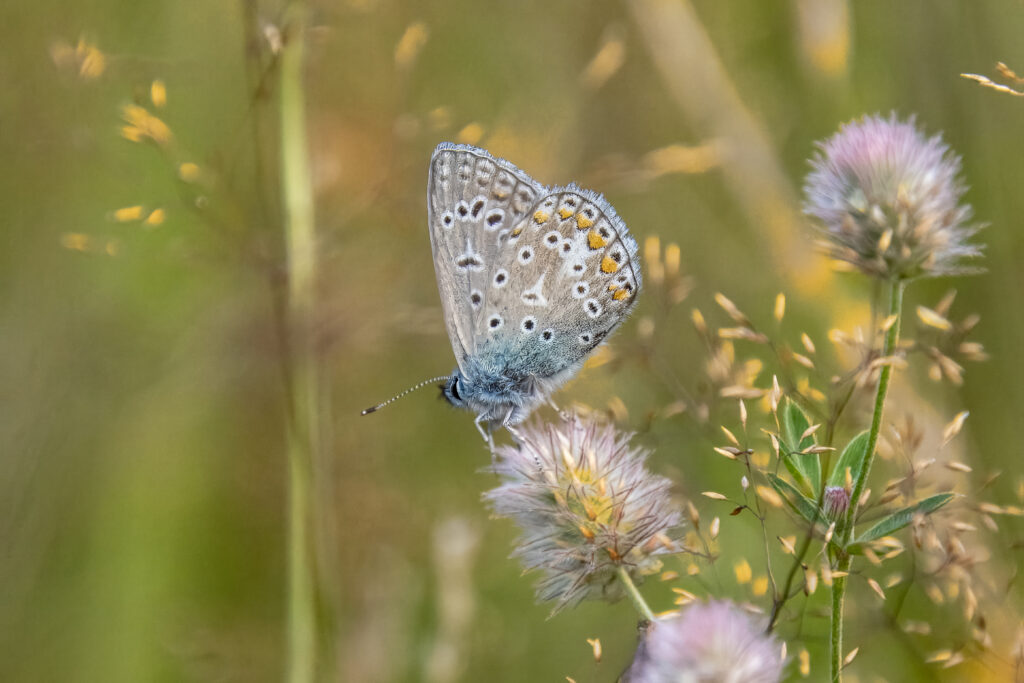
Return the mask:
<svg viewBox="0 0 1024 683">
<path fill-rule="evenodd" d="M 496 451 L 502 483 L 484 498 L 518 524 L 514 555 L 541 573 L 537 597 L 556 602 L 552 613 L 615 600 L 621 568 L 639 582 L 660 569 L 657 555 L 679 550 L 671 482 L 647 470 L 631 434 L 575 415 L 518 431 L 518 445 Z"/>
</svg>

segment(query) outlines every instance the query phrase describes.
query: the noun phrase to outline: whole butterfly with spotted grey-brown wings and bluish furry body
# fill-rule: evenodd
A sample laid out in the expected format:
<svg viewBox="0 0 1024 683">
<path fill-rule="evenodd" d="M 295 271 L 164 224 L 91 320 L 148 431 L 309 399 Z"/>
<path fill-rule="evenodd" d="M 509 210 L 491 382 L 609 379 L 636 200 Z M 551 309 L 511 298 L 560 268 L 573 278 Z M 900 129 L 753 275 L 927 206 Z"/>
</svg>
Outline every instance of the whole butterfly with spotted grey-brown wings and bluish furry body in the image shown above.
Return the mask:
<svg viewBox="0 0 1024 683">
<path fill-rule="evenodd" d="M 470 145 L 434 151 L 427 209 L 458 361 L 442 395 L 478 424 L 517 425 L 632 310 L 636 242 L 600 195 L 547 187 Z"/>
</svg>

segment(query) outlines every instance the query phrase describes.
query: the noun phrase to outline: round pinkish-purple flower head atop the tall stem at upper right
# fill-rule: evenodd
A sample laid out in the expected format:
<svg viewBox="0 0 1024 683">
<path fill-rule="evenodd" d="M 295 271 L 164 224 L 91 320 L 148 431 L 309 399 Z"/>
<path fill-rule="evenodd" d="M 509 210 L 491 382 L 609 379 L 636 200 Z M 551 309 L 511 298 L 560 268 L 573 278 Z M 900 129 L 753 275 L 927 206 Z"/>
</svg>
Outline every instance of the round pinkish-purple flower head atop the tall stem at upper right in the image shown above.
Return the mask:
<svg viewBox="0 0 1024 683">
<path fill-rule="evenodd" d="M 925 137 L 913 119 L 868 116 L 818 143 L 804 184 L 804 211 L 817 219 L 825 249 L 883 280 L 972 271 L 981 254 L 959 157 L 938 135 Z"/>
</svg>

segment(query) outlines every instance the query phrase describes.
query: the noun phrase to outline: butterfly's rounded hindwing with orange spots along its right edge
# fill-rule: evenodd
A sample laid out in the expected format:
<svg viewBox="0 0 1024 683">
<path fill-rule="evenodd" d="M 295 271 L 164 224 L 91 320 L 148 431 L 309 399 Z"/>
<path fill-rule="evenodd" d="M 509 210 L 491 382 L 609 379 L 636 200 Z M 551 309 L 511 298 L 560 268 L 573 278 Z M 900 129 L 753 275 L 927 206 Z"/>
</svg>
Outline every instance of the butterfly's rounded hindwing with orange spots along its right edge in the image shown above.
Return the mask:
<svg viewBox="0 0 1024 683">
<path fill-rule="evenodd" d="M 574 185 L 540 198 L 498 239 L 475 355 L 488 374 L 557 386 L 633 309 L 636 241 L 603 197 Z"/>
</svg>

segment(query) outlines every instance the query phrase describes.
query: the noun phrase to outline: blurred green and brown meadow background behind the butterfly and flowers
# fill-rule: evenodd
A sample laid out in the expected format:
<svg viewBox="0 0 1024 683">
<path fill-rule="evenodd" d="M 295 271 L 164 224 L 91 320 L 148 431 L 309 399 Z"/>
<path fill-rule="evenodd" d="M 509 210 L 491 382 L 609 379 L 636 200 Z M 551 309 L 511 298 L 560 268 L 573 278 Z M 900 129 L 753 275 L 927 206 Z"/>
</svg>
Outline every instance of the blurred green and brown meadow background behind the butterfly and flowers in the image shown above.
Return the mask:
<svg viewBox="0 0 1024 683">
<path fill-rule="evenodd" d="M 280 18 L 273 3 L 228 0 L 0 7 L 3 680 L 282 676 Z M 636 641 L 628 604 L 550 620 L 534 604 L 507 559 L 514 529 L 480 502 L 495 479 L 471 416 L 433 389 L 358 416 L 454 367 L 424 202 L 442 140 L 486 146 L 547 183 L 593 186 L 638 240 L 680 246 L 687 298 L 673 312 L 642 297 L 612 361 L 560 400 L 611 401 L 679 496 L 724 517 L 715 591 L 752 599 L 731 567 L 757 529 L 698 496 L 734 489 L 738 474 L 707 425 L 664 417 L 672 391 L 636 338 L 656 321 L 660 357 L 698 384 L 689 310 L 713 309 L 715 292 L 758 321 L 786 292 L 794 335 L 819 345 L 833 327 L 864 324 L 870 287 L 831 272 L 800 216 L 806 159 L 843 121 L 915 114 L 964 157 L 967 200 L 989 225 L 988 271 L 915 286 L 907 303 L 955 287 L 956 310 L 981 315 L 976 339 L 991 359 L 959 388 L 913 368 L 897 397 L 940 430 L 970 411 L 957 459 L 976 483 L 1002 472 L 986 500 L 1019 503 L 1024 98 L 959 74 L 994 76 L 998 60 L 1024 71 L 1024 5 L 337 0 L 313 3 L 312 24 L 328 437 L 317 516 L 335 615 L 326 680 L 611 681 Z M 153 101 L 155 80 L 166 102 Z M 163 144 L 126 139 L 132 103 L 167 124 Z M 1022 530 L 1000 516 L 986 542 L 1000 577 L 1014 575 Z M 669 588 L 645 591 L 667 608 Z M 958 613 L 908 599 L 922 622 Z M 851 604 L 858 680 L 1009 680 L 998 663 L 1013 660 L 1015 585 L 992 658 L 949 669 L 920 659 L 956 642 L 872 628 L 878 602 L 862 584 Z M 791 649 L 809 649 L 810 680 L 823 678 L 825 625 L 809 618 Z M 600 638 L 600 664 L 587 638 Z"/>
</svg>

